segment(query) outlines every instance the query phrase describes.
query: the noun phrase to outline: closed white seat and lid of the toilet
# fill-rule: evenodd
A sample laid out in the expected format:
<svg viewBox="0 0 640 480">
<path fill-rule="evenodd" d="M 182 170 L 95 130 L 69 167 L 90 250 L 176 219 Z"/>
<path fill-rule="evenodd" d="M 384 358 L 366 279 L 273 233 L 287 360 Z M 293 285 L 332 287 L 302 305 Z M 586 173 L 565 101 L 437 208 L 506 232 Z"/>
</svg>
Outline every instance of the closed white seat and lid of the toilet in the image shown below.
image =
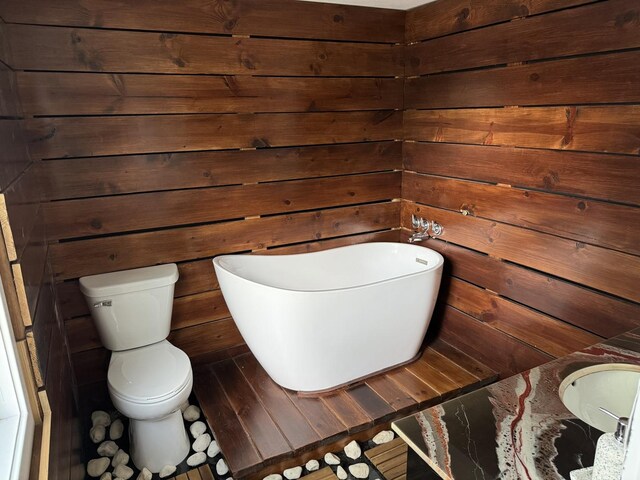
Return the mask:
<svg viewBox="0 0 640 480">
<path fill-rule="evenodd" d="M 107 374 L 112 395 L 138 403 L 160 403 L 191 385 L 186 353 L 163 340 L 133 350 L 113 352 Z"/>
</svg>

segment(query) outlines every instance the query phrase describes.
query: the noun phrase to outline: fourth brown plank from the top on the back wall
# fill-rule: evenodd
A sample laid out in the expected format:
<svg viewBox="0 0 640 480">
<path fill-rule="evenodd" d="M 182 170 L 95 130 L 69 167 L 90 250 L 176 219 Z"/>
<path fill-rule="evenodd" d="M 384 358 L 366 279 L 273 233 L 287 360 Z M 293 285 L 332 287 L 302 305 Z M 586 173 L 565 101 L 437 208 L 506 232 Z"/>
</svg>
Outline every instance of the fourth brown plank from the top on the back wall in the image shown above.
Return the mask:
<svg viewBox="0 0 640 480">
<path fill-rule="evenodd" d="M 394 140 L 402 114 L 342 113 L 157 115 L 34 119 L 31 153 L 40 158 L 264 148 Z"/>
</svg>

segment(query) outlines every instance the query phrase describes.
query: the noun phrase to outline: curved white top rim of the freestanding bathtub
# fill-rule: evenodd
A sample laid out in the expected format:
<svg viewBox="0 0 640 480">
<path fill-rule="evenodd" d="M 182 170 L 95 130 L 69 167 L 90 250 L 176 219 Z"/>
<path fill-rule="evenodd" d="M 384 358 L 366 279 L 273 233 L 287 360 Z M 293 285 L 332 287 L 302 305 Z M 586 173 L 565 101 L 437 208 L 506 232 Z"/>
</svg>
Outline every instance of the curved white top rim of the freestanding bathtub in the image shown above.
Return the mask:
<svg viewBox="0 0 640 480">
<path fill-rule="evenodd" d="M 294 257 L 294 256 L 301 256 L 301 255 L 316 255 L 316 254 L 323 254 L 326 252 L 329 252 L 331 250 L 341 250 L 341 249 L 345 249 L 345 248 L 353 248 L 356 247 L 358 245 L 402 245 L 402 246 L 407 246 L 407 247 L 412 247 L 412 248 L 424 248 L 426 250 L 429 250 L 429 252 L 431 252 L 431 254 L 435 255 L 435 258 L 437 258 L 437 263 L 433 266 L 428 266 L 427 268 L 425 268 L 424 270 L 420 270 L 418 272 L 413 272 L 413 273 L 407 273 L 404 275 L 395 275 L 393 277 L 389 277 L 389 278 L 385 278 L 383 280 L 378 280 L 375 282 L 368 282 L 368 283 L 363 283 L 360 285 L 353 285 L 353 286 L 349 286 L 349 287 L 340 287 L 340 288 L 324 288 L 321 290 L 312 290 L 312 289 L 297 289 L 297 288 L 287 288 L 287 287 L 281 287 L 281 286 L 276 286 L 276 285 L 271 285 L 268 283 L 263 283 L 263 282 L 257 282 L 255 280 L 251 280 L 249 278 L 243 277 L 242 275 L 238 275 L 237 273 L 229 270 L 228 268 L 224 267 L 223 265 L 220 264 L 220 261 L 228 258 L 228 257 L 239 257 L 239 256 L 257 256 L 257 257 L 269 257 L 269 258 L 275 258 L 275 257 Z M 389 283 L 392 281 L 397 281 L 399 279 L 404 279 L 404 278 L 412 278 L 412 277 L 416 277 L 419 275 L 424 275 L 427 273 L 432 273 L 437 271 L 438 269 L 442 269 L 444 267 L 444 257 L 442 256 L 442 254 L 436 250 L 433 250 L 429 247 L 425 247 L 423 245 L 410 245 L 410 244 L 405 244 L 402 242 L 368 242 L 368 243 L 358 243 L 358 244 L 353 244 L 353 245 L 343 245 L 341 247 L 334 247 L 334 248 L 328 248 L 326 250 L 319 250 L 319 251 L 315 251 L 315 252 L 304 252 L 304 253 L 292 253 L 292 254 L 282 254 L 282 255 L 260 255 L 260 254 L 254 254 L 254 253 L 232 253 L 232 254 L 223 254 L 223 255 L 218 255 L 216 257 L 214 257 L 212 259 L 213 262 L 213 266 L 214 269 L 221 269 L 224 272 L 228 273 L 229 275 L 232 275 L 236 278 L 239 278 L 241 280 L 244 280 L 245 282 L 250 282 L 252 284 L 256 284 L 256 285 L 260 285 L 263 287 L 267 287 L 267 288 L 273 288 L 276 290 L 281 290 L 281 291 L 285 291 L 285 292 L 290 292 L 290 293 L 296 293 L 296 294 L 322 294 L 322 293 L 335 293 L 335 292 L 348 292 L 348 291 L 352 291 L 352 290 L 356 290 L 356 289 L 362 289 L 362 288 L 368 288 L 374 285 L 382 285 L 385 283 Z"/>
</svg>

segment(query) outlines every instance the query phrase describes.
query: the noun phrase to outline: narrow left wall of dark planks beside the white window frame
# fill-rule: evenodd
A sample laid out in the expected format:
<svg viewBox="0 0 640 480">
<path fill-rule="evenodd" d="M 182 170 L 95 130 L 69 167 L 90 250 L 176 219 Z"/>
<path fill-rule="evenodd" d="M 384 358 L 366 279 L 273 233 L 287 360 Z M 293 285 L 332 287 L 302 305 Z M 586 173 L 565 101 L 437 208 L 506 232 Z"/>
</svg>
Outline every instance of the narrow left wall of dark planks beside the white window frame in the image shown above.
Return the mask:
<svg viewBox="0 0 640 480">
<path fill-rule="evenodd" d="M 0 33 L 5 28 L 0 20 Z M 83 478 L 73 371 L 47 265 L 40 162 L 29 155 L 28 115 L 10 45 L 0 38 L 0 277 L 36 422 L 30 478 Z"/>
</svg>

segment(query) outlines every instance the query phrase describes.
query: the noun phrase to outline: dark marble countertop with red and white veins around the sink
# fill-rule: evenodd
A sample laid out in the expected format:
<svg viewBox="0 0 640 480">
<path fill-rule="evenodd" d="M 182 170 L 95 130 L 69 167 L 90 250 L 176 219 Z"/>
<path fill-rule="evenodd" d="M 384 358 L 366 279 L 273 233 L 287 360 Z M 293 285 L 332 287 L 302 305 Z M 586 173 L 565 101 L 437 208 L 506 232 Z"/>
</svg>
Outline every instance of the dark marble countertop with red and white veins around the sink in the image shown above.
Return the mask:
<svg viewBox="0 0 640 480">
<path fill-rule="evenodd" d="M 602 432 L 565 408 L 562 380 L 595 364 L 640 364 L 640 329 L 393 422 L 442 478 L 568 479 Z"/>
</svg>

